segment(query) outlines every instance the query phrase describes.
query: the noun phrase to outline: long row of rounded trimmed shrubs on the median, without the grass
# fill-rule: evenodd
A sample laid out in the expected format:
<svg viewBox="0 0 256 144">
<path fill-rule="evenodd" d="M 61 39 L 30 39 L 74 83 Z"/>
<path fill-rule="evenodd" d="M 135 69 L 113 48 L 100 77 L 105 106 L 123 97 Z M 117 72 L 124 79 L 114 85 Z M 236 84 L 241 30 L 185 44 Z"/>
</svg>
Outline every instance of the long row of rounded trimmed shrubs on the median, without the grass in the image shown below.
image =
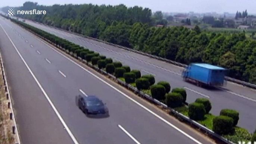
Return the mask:
<svg viewBox="0 0 256 144">
<path fill-rule="evenodd" d="M 65 39 L 59 38 L 41 29 L 27 25 L 23 22 L 13 20 L 25 28 L 37 33 L 38 35 L 46 38 L 52 43 L 65 48 L 65 50 L 72 52 L 77 57 L 97 65 L 99 69 L 105 69 L 107 73 L 113 74 L 116 78 L 123 77 L 128 84 L 135 83 L 138 90 L 149 90 L 151 96 L 157 100 L 163 101 L 168 107 L 175 108 L 184 105 L 187 99 L 187 93 L 183 88 L 174 88 L 171 91 L 171 86 L 168 82 L 160 81 L 155 84 L 153 75 L 143 75 L 139 70 L 132 70 L 129 66 L 123 66 L 121 62 L 113 62 L 111 58 L 106 58 L 99 53 L 95 53 L 87 48 L 81 47 L 77 44 L 71 43 Z M 171 91 L 171 93 L 169 93 Z M 188 106 L 188 116 L 193 120 L 203 120 L 205 115 L 212 109 L 211 103 L 206 98 L 197 98 L 194 103 Z M 239 113 L 235 110 L 223 109 L 220 116 L 213 119 L 213 131 L 217 134 L 228 134 L 234 130 L 239 120 Z M 252 137 L 256 140 L 256 131 Z"/>
</svg>

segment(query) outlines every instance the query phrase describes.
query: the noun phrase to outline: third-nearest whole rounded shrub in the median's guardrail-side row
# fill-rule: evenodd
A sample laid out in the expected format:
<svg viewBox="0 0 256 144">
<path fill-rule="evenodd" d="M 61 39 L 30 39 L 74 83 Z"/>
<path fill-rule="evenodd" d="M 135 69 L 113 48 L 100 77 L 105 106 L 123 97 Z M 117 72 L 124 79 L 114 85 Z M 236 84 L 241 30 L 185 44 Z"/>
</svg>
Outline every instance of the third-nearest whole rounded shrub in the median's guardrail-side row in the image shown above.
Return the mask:
<svg viewBox="0 0 256 144">
<path fill-rule="evenodd" d="M 168 107 L 175 108 L 182 105 L 183 97 L 180 93 L 166 94 L 165 102 Z"/>
</svg>

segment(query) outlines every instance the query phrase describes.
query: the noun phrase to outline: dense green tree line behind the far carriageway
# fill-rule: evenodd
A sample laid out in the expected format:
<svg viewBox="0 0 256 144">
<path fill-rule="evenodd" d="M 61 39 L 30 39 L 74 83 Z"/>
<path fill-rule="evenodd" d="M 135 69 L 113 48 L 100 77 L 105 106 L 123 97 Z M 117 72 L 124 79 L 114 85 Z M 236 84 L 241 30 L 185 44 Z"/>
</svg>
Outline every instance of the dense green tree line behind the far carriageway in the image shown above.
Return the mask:
<svg viewBox="0 0 256 144">
<path fill-rule="evenodd" d="M 160 12 L 123 4 L 40 6 L 26 2 L 16 9 L 46 10 L 46 15 L 19 16 L 185 64 L 222 66 L 230 69 L 228 76 L 256 83 L 256 41 L 246 39 L 245 33 L 205 32 L 198 26 L 192 30 L 157 28 L 163 20 Z"/>
</svg>

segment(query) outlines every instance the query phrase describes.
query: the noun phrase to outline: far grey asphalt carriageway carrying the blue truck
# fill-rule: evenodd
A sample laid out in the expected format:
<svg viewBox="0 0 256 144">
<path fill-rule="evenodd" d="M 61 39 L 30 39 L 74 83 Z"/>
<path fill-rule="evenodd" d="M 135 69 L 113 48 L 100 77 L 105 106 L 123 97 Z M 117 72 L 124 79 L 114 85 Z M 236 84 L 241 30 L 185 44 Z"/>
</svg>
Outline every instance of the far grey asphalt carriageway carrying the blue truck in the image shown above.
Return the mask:
<svg viewBox="0 0 256 144">
<path fill-rule="evenodd" d="M 78 35 L 70 34 L 49 26 L 38 24 L 26 20 L 26 23 L 37 28 L 43 29 L 51 34 L 65 38 L 81 46 L 97 51 L 113 60 L 121 61 L 124 65 L 129 65 L 131 69 L 139 69 L 142 74 L 152 74 L 156 81 L 168 81 L 172 88 L 184 87 L 187 89 L 187 102 L 192 103 L 196 98 L 209 98 L 212 103 L 211 113 L 219 115 L 221 109 L 234 109 L 240 113 L 238 126 L 253 132 L 256 127 L 256 91 L 247 87 L 228 82 L 226 87 L 209 90 L 197 87 L 182 81 L 182 68 L 171 65 L 160 60 L 142 56 L 118 47 L 110 46 Z"/>
</svg>

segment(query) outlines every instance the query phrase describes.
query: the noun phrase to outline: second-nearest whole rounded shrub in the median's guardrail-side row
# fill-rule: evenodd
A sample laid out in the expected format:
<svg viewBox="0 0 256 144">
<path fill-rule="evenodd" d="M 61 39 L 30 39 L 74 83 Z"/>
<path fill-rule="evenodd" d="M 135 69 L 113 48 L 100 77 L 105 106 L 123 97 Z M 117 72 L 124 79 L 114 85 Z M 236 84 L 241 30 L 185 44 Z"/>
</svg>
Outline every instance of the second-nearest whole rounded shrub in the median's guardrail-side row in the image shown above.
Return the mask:
<svg viewBox="0 0 256 144">
<path fill-rule="evenodd" d="M 206 114 L 205 106 L 202 103 L 191 103 L 188 106 L 188 116 L 193 120 L 202 120 Z"/>
</svg>

